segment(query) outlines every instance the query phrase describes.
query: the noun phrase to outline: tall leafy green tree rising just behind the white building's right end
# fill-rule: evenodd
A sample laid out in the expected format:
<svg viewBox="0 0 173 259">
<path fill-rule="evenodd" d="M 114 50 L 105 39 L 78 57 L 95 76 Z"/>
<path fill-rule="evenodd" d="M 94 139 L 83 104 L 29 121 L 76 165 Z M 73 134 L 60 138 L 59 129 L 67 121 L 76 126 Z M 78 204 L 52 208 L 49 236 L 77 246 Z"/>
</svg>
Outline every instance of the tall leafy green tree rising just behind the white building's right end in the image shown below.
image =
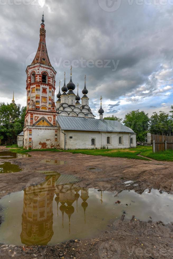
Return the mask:
<svg viewBox="0 0 173 259">
<path fill-rule="evenodd" d="M 133 110 L 125 115 L 123 123 L 137 134 L 136 140 L 138 142 L 145 141 L 149 126 L 148 113 Z"/>
</svg>

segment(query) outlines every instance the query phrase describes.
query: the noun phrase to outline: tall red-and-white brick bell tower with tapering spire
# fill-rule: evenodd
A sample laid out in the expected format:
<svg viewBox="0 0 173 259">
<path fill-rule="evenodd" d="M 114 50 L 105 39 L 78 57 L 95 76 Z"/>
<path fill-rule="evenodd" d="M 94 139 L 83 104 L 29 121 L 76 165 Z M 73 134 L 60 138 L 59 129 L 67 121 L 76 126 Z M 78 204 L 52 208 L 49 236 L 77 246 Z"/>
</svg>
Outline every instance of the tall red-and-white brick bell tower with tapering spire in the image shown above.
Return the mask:
<svg viewBox="0 0 173 259">
<path fill-rule="evenodd" d="M 41 20 L 37 53 L 27 66 L 27 111 L 24 127 L 24 148 L 58 147 L 56 127 L 55 75 L 46 48 L 44 14 Z"/>
</svg>

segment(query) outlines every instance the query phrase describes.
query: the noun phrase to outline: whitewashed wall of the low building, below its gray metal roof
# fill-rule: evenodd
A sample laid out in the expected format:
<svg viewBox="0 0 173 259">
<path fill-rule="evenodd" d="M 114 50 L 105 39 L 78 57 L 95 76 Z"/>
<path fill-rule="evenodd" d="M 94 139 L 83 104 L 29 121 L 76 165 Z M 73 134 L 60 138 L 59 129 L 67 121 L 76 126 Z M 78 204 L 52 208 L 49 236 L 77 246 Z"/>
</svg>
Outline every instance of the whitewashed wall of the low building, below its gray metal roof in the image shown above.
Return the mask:
<svg viewBox="0 0 173 259">
<path fill-rule="evenodd" d="M 117 132 L 97 132 L 97 131 L 64 131 L 66 133 L 66 149 L 100 149 L 102 146 L 113 148 L 129 148 L 130 134 Z M 107 137 L 110 137 L 110 144 L 107 144 Z M 122 137 L 122 144 L 119 144 L 119 137 Z M 135 147 L 135 137 L 134 144 Z M 95 145 L 91 144 L 91 139 L 95 140 Z M 60 148 L 64 148 L 64 134 L 60 133 Z"/>
</svg>

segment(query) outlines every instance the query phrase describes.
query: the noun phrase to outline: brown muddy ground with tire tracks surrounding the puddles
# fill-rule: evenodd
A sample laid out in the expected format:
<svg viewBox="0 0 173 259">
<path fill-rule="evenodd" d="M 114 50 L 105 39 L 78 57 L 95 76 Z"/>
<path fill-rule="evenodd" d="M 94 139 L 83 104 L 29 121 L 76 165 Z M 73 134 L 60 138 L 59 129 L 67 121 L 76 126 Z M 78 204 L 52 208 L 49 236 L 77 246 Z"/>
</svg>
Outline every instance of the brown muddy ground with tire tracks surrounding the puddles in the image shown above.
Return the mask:
<svg viewBox="0 0 173 259">
<path fill-rule="evenodd" d="M 1 151 L 2 147 L 0 147 Z M 3 148 L 4 149 L 4 148 Z M 65 152 L 30 152 L 31 158 L 6 159 L 19 165 L 19 173 L 0 174 L 0 198 L 44 181 L 39 170 L 73 174 L 80 186 L 120 192 L 159 189 L 173 193 L 172 162 L 108 158 Z M 40 163 L 42 159 L 67 161 L 66 165 Z M 95 169 L 93 169 L 95 168 Z M 137 186 L 125 186 L 125 181 Z M 56 246 L 17 247 L 0 245 L 0 258 L 173 258 L 173 223 L 115 221 L 110 231 L 95 239 L 68 241 Z"/>
</svg>

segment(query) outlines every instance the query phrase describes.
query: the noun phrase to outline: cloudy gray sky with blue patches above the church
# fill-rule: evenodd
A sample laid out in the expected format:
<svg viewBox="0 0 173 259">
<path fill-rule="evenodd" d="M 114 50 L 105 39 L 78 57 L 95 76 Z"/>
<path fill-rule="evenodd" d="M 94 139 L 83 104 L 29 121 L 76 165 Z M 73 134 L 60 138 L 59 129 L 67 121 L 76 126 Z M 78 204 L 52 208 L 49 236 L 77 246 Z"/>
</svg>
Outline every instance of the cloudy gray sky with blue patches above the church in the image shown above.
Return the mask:
<svg viewBox="0 0 173 259">
<path fill-rule="evenodd" d="M 95 115 L 119 117 L 140 109 L 169 112 L 173 98 L 173 1 L 0 0 L 0 101 L 26 105 L 26 66 L 39 43 L 44 11 L 46 45 L 63 86 L 87 76 Z M 56 101 L 56 100 L 55 100 Z"/>
</svg>

